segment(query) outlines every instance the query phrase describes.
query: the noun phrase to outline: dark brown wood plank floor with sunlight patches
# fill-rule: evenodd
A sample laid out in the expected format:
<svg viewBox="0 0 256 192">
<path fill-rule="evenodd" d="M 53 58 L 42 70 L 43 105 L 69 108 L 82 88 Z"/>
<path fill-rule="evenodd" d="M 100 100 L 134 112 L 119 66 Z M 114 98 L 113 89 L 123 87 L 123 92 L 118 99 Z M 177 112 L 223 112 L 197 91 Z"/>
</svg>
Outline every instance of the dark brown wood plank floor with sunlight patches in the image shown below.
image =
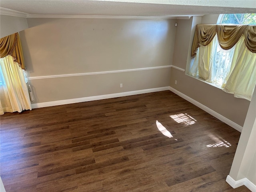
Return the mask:
<svg viewBox="0 0 256 192">
<path fill-rule="evenodd" d="M 225 182 L 240 132 L 170 91 L 0 118 L 7 192 L 250 191 Z"/>
</svg>

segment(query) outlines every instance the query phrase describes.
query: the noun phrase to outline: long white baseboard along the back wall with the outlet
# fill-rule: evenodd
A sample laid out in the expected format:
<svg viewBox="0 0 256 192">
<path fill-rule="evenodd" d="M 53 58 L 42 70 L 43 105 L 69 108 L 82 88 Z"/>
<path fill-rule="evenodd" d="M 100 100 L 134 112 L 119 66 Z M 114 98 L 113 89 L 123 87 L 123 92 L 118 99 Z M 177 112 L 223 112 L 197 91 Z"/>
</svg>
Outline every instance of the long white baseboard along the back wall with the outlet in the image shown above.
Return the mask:
<svg viewBox="0 0 256 192">
<path fill-rule="evenodd" d="M 83 98 L 75 98 L 75 99 L 67 99 L 67 100 L 59 100 L 59 101 L 50 101 L 50 102 L 43 102 L 43 103 L 35 103 L 35 104 L 32 104 L 32 108 L 34 109 L 34 108 L 50 107 L 50 106 L 57 106 L 57 105 L 65 105 L 65 104 L 71 104 L 71 103 L 80 103 L 80 102 L 86 102 L 86 101 L 109 99 L 109 98 L 116 98 L 116 97 L 123 97 L 123 96 L 130 96 L 130 95 L 165 91 L 165 90 L 169 90 L 169 86 L 159 87 L 159 88 L 152 88 L 152 89 L 137 90 L 137 91 L 122 92 L 122 93 L 106 94 L 106 95 L 99 95 L 99 96 L 91 96 L 91 97 L 83 97 Z"/>
</svg>

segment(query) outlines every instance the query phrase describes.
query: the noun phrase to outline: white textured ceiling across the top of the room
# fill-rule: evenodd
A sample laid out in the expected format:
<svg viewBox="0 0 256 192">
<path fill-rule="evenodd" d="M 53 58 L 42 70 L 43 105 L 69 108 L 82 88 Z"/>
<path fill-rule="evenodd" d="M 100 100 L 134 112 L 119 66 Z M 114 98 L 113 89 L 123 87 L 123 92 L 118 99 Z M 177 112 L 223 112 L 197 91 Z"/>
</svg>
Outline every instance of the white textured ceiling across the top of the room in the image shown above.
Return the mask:
<svg viewBox="0 0 256 192">
<path fill-rule="evenodd" d="M 1 0 L 0 7 L 1 14 L 11 11 L 24 17 L 202 16 L 256 13 L 256 0 Z"/>
</svg>

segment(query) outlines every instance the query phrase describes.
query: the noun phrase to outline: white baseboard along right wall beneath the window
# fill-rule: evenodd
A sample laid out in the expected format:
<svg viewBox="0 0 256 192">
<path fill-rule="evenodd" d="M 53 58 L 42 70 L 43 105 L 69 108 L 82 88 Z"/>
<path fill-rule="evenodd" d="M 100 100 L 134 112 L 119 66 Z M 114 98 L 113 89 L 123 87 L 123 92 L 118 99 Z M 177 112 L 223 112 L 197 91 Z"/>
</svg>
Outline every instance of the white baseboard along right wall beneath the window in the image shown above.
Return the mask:
<svg viewBox="0 0 256 192">
<path fill-rule="evenodd" d="M 175 94 L 177 94 L 178 96 L 184 98 L 185 100 L 187 100 L 188 102 L 194 104 L 195 106 L 198 106 L 199 108 L 201 108 L 202 110 L 208 112 L 209 114 L 211 114 L 212 116 L 216 117 L 217 119 L 221 120 L 222 122 L 228 124 L 229 126 L 231 126 L 232 128 L 238 130 L 239 132 L 242 132 L 242 126 L 236 124 L 235 122 L 229 120 L 228 118 L 222 116 L 221 114 L 218 114 L 217 112 L 215 112 L 214 110 L 204 106 L 203 104 L 199 103 L 198 101 L 186 96 L 185 94 L 179 92 L 178 90 L 169 87 L 169 90 L 174 92 Z"/>
</svg>

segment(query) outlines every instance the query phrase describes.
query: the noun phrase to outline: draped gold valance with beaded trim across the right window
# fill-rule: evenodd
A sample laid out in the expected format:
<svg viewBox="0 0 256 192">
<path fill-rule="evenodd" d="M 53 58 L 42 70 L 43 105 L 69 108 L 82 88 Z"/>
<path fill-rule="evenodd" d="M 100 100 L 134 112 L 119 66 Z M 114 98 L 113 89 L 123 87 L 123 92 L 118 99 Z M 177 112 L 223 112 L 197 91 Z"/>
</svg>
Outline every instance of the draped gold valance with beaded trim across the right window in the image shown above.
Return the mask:
<svg viewBox="0 0 256 192">
<path fill-rule="evenodd" d="M 246 47 L 250 52 L 256 53 L 256 26 L 197 24 L 191 56 L 196 56 L 199 46 L 210 44 L 216 34 L 220 46 L 225 50 L 232 48 L 244 34 Z"/>
</svg>

